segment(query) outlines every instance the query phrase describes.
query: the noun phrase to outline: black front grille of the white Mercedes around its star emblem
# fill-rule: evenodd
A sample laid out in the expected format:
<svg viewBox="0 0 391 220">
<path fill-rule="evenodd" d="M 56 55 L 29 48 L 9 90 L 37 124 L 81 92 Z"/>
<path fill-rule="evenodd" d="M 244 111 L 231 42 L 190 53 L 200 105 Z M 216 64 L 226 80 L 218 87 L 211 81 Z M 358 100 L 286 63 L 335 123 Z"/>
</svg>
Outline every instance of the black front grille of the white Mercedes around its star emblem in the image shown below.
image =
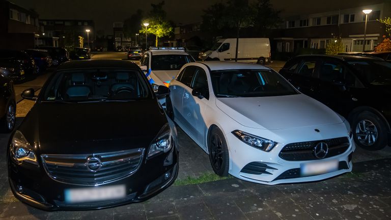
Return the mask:
<svg viewBox="0 0 391 220">
<path fill-rule="evenodd" d="M 340 155 L 347 151 L 350 146 L 348 137 L 337 137 L 335 139 L 311 142 L 298 142 L 285 145 L 278 156 L 290 161 L 316 160 L 318 158 L 314 154 L 314 148 L 320 142 L 324 142 L 328 145 L 328 153 L 324 158 Z"/>
</svg>

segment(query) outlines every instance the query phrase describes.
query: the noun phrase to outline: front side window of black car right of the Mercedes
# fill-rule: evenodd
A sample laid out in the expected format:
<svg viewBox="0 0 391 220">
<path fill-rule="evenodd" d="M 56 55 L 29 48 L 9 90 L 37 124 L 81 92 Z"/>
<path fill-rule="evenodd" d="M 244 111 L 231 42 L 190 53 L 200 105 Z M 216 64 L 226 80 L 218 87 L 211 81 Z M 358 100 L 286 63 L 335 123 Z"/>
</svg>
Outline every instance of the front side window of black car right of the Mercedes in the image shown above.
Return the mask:
<svg viewBox="0 0 391 220">
<path fill-rule="evenodd" d="M 319 69 L 319 78 L 329 82 L 343 82 L 345 67 L 338 62 L 324 62 Z"/>
</svg>

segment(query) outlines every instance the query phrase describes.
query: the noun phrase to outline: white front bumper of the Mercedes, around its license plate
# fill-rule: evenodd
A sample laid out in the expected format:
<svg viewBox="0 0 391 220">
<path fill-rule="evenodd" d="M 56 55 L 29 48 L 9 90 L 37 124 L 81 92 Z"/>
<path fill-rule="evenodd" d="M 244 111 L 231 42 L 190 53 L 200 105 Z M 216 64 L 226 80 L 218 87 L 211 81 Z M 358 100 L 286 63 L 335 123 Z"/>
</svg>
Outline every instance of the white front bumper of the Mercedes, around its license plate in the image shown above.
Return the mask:
<svg viewBox="0 0 391 220">
<path fill-rule="evenodd" d="M 272 151 L 264 152 L 241 142 L 233 135 L 227 135 L 231 158 L 229 173 L 242 180 L 275 185 L 318 181 L 352 171 L 352 154 L 355 150 L 355 144 L 350 138 L 350 146 L 339 155 L 317 160 L 288 161 L 279 156 L 283 146 L 276 146 Z M 337 170 L 318 175 L 303 175 L 301 173 L 303 164 L 330 161 L 338 163 Z M 253 168 L 253 170 L 243 169 L 245 167 Z"/>
</svg>

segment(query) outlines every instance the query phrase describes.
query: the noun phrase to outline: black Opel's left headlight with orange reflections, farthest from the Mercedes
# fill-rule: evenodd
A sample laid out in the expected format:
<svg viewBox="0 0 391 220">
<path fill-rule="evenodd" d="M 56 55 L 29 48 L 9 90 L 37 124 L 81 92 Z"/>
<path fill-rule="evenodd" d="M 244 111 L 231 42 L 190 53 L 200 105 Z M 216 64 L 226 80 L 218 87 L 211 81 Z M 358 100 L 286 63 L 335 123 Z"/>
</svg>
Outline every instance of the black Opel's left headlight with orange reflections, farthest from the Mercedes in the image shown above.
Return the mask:
<svg viewBox="0 0 391 220">
<path fill-rule="evenodd" d="M 11 158 L 17 162 L 28 162 L 38 165 L 37 158 L 32 150 L 31 145 L 20 131 L 16 131 L 12 137 L 10 146 Z"/>
</svg>

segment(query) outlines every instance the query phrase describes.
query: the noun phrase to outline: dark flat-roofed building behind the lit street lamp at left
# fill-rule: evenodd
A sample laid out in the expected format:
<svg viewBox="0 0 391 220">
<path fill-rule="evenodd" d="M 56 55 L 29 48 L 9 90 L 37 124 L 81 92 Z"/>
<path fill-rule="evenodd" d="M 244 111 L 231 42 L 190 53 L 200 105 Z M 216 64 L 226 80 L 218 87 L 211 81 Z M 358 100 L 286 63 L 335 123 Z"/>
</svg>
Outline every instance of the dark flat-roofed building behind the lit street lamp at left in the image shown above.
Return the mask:
<svg viewBox="0 0 391 220">
<path fill-rule="evenodd" d="M 44 29 L 40 45 L 78 47 L 80 36 L 83 38 L 83 46 L 94 48 L 96 33 L 93 20 L 40 19 L 39 23 Z"/>
</svg>

